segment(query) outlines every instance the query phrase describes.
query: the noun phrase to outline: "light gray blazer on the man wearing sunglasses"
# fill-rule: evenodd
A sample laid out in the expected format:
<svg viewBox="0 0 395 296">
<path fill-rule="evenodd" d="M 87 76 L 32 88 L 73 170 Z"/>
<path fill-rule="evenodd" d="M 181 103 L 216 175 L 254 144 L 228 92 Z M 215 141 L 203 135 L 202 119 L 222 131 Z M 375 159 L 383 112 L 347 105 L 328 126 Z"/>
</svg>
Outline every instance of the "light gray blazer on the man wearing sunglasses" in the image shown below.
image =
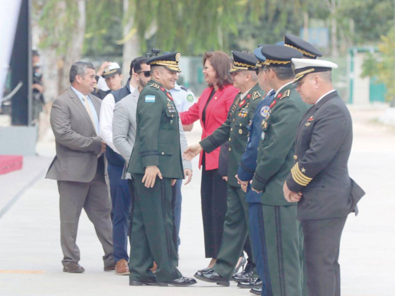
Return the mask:
<svg viewBox="0 0 395 296">
<path fill-rule="evenodd" d="M 131 94 L 115 104 L 113 116 L 113 144 L 126 161 L 122 179 L 130 179 L 130 174 L 126 173 L 126 167 L 129 164 L 130 155 L 132 155 L 136 138 L 136 110 L 138 99 L 139 90 L 136 88 Z M 179 129 L 181 151 L 185 151 L 188 148 L 188 143 L 186 142 L 185 132 L 182 129 L 180 119 Z M 184 169 L 192 170 L 190 161 L 182 159 L 182 166 Z"/>
</svg>

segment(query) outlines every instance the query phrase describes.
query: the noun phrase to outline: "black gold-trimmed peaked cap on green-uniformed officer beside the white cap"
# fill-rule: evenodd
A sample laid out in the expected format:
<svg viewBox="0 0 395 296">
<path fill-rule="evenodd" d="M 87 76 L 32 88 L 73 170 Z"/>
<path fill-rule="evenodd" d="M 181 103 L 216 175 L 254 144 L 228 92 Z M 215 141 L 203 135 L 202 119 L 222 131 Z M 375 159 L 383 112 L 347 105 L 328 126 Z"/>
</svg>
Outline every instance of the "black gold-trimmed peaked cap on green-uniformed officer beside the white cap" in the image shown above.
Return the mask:
<svg viewBox="0 0 395 296">
<path fill-rule="evenodd" d="M 265 45 L 261 47 L 261 54 L 266 58 L 263 65 L 273 67 L 291 67 L 292 58 L 302 58 L 303 56 L 296 49 L 282 45 Z"/>
</svg>

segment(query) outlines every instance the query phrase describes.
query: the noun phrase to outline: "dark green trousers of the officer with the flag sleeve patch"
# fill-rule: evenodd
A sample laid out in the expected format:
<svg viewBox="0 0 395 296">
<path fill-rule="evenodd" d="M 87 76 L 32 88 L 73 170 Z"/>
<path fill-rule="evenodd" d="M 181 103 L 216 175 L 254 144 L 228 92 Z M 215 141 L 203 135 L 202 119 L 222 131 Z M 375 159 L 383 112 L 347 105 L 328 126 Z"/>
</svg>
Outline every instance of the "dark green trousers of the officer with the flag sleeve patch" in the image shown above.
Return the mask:
<svg viewBox="0 0 395 296">
<path fill-rule="evenodd" d="M 156 178 L 147 188 L 141 182 L 143 174 L 132 174 L 135 200 L 130 233 L 130 280 L 147 281 L 154 277 L 149 270 L 158 265 L 156 281 L 177 279 L 178 258 L 173 244 L 173 210 L 171 208 L 171 179 Z"/>
</svg>

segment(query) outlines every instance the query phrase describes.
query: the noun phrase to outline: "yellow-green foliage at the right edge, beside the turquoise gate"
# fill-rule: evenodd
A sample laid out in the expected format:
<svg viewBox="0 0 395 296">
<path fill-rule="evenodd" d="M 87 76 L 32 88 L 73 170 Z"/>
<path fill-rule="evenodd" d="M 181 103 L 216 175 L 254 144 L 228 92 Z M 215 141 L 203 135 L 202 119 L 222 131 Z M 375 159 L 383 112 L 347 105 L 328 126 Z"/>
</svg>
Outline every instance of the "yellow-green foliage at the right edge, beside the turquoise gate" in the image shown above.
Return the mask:
<svg viewBox="0 0 395 296">
<path fill-rule="evenodd" d="M 395 102 L 395 28 L 391 28 L 378 45 L 379 55 L 370 54 L 363 64 L 362 77 L 378 78 L 386 85 L 386 101 Z"/>
</svg>

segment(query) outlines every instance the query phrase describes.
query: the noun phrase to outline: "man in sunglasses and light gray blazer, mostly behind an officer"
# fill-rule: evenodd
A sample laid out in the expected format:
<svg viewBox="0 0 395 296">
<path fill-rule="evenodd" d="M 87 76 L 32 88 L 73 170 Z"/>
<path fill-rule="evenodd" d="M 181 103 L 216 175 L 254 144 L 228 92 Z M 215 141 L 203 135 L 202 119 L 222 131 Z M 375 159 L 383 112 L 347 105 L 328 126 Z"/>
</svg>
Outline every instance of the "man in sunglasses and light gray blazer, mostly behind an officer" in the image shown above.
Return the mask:
<svg viewBox="0 0 395 296">
<path fill-rule="evenodd" d="M 141 90 L 147 85 L 151 77 L 148 75 L 150 66 L 145 64 L 148 58 L 141 58 L 136 60 L 134 64 L 134 74 L 138 81 L 138 88 L 136 88 L 131 94 L 124 97 L 121 101 L 115 104 L 114 116 L 113 116 L 113 144 L 119 153 L 126 160 L 124 172 L 122 178 L 128 179 L 131 195 L 133 192 L 133 182 L 131 176 L 126 172 L 126 167 L 129 164 L 130 155 L 132 154 L 134 141 L 136 137 L 136 110 L 137 100 Z M 147 74 L 146 74 L 147 73 Z M 138 77 L 137 77 L 138 76 Z M 184 130 L 182 129 L 181 121 L 179 120 L 180 129 L 180 146 L 181 151 L 188 148 Z M 185 185 L 188 184 L 192 178 L 192 165 L 190 161 L 182 159 L 182 165 L 184 167 L 184 175 L 188 177 Z M 133 207 L 133 205 L 132 205 Z M 175 231 L 175 232 L 174 232 Z M 174 229 L 173 241 L 177 246 L 177 230 Z"/>
</svg>

